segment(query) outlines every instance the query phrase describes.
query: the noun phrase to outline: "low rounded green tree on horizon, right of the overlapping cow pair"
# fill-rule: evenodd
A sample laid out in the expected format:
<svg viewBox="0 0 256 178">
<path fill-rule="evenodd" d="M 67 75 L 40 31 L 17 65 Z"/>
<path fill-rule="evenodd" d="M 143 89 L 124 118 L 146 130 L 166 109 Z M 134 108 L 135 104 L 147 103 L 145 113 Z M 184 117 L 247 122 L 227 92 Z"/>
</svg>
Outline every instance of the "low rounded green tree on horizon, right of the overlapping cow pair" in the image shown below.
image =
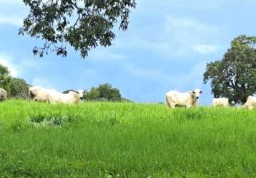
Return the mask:
<svg viewBox="0 0 256 178">
<path fill-rule="evenodd" d="M 84 98 L 86 100 L 121 101 L 122 95 L 118 88 L 112 88 L 111 84 L 104 83 L 98 88 L 92 88 Z"/>
</svg>

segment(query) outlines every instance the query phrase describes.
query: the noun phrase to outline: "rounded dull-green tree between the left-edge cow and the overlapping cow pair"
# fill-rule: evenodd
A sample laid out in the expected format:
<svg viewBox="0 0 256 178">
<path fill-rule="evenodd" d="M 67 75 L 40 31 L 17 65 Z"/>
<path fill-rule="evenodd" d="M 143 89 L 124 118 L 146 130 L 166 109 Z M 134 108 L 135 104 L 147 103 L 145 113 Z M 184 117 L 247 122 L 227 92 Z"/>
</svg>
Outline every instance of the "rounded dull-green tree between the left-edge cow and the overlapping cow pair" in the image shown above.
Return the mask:
<svg viewBox="0 0 256 178">
<path fill-rule="evenodd" d="M 9 96 L 14 98 L 28 98 L 29 85 L 20 78 L 11 78 L 9 82 Z"/>
</svg>

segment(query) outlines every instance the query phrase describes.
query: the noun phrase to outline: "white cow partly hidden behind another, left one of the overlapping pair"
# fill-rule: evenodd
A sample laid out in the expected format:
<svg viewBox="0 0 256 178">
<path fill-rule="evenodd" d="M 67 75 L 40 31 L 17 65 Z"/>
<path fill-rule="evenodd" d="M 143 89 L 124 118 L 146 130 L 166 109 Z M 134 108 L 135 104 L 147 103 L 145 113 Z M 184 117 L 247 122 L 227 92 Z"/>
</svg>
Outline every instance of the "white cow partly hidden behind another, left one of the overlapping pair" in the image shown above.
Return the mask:
<svg viewBox="0 0 256 178">
<path fill-rule="evenodd" d="M 57 91 L 54 89 L 46 89 L 39 86 L 33 86 L 29 88 L 29 100 L 47 102 L 47 95 L 49 93 L 57 93 Z"/>
</svg>

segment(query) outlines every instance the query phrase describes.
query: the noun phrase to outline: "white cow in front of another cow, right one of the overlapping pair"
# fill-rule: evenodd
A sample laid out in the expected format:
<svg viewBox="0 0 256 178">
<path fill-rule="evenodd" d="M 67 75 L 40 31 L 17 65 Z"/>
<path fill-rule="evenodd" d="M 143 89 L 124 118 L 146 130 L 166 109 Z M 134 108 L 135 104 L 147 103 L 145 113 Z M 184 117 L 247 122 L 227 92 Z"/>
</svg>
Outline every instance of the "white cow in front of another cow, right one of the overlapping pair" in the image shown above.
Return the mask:
<svg viewBox="0 0 256 178">
<path fill-rule="evenodd" d="M 79 103 L 80 102 L 80 95 L 78 92 L 69 91 L 69 93 L 48 93 L 47 94 L 47 101 L 49 103 Z"/>
</svg>

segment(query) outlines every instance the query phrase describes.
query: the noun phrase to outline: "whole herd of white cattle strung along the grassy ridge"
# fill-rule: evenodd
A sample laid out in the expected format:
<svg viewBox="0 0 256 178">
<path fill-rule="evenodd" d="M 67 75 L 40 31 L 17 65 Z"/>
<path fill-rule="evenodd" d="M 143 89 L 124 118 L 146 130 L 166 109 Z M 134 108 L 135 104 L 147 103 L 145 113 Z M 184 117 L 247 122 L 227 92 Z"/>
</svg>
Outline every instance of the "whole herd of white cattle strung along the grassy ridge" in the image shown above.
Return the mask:
<svg viewBox="0 0 256 178">
<path fill-rule="evenodd" d="M 187 108 L 196 107 L 202 91 L 195 89 L 186 93 L 180 93 L 177 91 L 169 91 L 166 93 L 167 106 L 169 108 L 175 108 L 177 106 L 184 106 Z M 86 94 L 85 91 L 69 91 L 69 93 L 59 93 L 55 89 L 46 89 L 39 86 L 32 86 L 29 88 L 29 100 L 45 103 L 79 103 L 80 100 Z M 6 100 L 6 90 L 0 88 L 0 101 Z M 228 107 L 228 98 L 214 98 L 212 100 L 213 106 Z M 241 108 L 247 108 L 249 110 L 256 108 L 256 98 L 251 95 L 248 96 L 245 105 Z"/>
</svg>

